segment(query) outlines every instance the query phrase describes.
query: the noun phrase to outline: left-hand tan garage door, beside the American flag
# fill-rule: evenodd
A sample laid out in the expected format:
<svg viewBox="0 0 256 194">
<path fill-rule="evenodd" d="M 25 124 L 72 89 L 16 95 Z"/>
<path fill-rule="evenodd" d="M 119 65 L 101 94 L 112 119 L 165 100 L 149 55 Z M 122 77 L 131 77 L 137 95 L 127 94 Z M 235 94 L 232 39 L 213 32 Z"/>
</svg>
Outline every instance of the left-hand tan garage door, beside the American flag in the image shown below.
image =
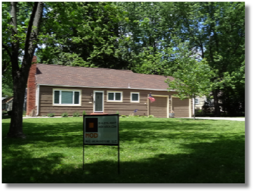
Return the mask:
<svg viewBox="0 0 256 194">
<path fill-rule="evenodd" d="M 154 102 L 149 101 L 150 115 L 154 117 L 167 117 L 167 97 L 154 96 Z"/>
</svg>

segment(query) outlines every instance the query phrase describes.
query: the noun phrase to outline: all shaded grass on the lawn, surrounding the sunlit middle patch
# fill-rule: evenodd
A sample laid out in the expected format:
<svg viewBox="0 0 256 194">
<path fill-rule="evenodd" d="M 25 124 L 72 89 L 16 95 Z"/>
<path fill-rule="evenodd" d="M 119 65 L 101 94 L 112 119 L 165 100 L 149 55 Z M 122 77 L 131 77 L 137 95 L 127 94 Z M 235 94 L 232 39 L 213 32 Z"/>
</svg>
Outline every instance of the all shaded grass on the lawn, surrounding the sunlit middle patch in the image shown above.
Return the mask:
<svg viewBox="0 0 256 194">
<path fill-rule="evenodd" d="M 59 120 L 62 121 L 62 120 Z M 210 124 L 201 122 L 162 122 L 161 120 L 121 121 L 120 140 L 147 143 L 152 138 L 214 139 L 211 133 L 201 133 Z M 2 139 L 2 183 L 244 183 L 245 141 L 244 133 L 233 133 L 230 137 L 218 135 L 212 143 L 179 143 L 180 148 L 191 153 L 165 154 L 158 152 L 151 158 L 122 161 L 125 147 L 120 151 L 120 175 L 117 161 L 98 160 L 63 163 L 65 153 L 47 153 L 34 158 L 25 148 L 26 144 L 42 147 L 82 147 L 82 122 L 67 123 L 24 122 L 26 139 Z M 2 123 L 6 134 L 9 123 Z M 165 131 L 165 132 L 162 132 Z M 179 131 L 179 133 L 175 133 Z M 216 128 L 216 130 L 219 130 Z M 156 131 L 159 131 L 156 132 Z M 194 132 L 193 132 L 194 131 Z M 17 147 L 15 151 L 10 147 Z M 149 145 L 151 146 L 151 145 Z M 116 146 L 115 146 L 116 147 Z M 157 149 L 157 147 L 153 147 Z M 97 147 L 95 146 L 95 149 Z M 141 150 L 141 152 L 147 152 Z M 82 153 L 81 153 L 82 161 Z"/>
</svg>

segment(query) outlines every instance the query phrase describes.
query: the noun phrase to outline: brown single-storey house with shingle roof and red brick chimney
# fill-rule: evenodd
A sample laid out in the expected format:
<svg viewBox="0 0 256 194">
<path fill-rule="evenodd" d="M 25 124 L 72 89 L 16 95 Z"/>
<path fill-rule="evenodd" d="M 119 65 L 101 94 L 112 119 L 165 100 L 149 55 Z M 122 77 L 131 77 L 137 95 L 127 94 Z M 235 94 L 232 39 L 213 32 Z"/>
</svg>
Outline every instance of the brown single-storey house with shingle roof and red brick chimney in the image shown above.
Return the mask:
<svg viewBox="0 0 256 194">
<path fill-rule="evenodd" d="M 27 83 L 27 116 L 54 113 L 116 114 L 191 117 L 193 101 L 175 98 L 168 92 L 167 77 L 133 73 L 130 70 L 84 68 L 36 64 Z M 168 77 L 173 80 L 173 77 Z M 151 93 L 154 102 L 150 102 Z M 134 110 L 138 109 L 136 113 Z"/>
</svg>

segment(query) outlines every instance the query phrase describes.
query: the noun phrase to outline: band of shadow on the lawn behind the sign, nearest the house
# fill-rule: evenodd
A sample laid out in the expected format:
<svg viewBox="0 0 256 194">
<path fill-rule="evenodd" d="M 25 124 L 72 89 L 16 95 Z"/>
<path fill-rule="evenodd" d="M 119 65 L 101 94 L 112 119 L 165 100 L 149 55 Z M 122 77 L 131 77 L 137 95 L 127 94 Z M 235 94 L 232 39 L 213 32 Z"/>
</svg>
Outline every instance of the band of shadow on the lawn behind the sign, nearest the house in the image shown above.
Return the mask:
<svg viewBox="0 0 256 194">
<path fill-rule="evenodd" d="M 39 119 L 39 120 L 38 120 Z M 54 118 L 53 118 L 54 119 Z M 53 121 L 52 119 L 52 121 Z M 36 119 L 40 121 L 40 118 Z M 35 121 L 35 120 L 34 120 Z M 83 123 L 81 122 L 65 122 L 56 123 L 56 121 L 65 120 L 55 120 L 51 121 L 51 118 L 41 120 L 45 122 L 30 122 L 29 120 L 24 121 L 23 131 L 26 135 L 26 139 L 23 140 L 12 140 L 4 139 L 4 141 L 11 141 L 11 144 L 25 145 L 25 144 L 37 144 L 37 147 L 44 147 L 46 143 L 47 146 L 59 147 L 79 147 L 81 146 L 83 139 Z M 66 120 L 67 121 L 67 120 Z M 8 133 L 10 123 L 2 123 L 2 137 L 6 136 Z M 189 133 L 188 130 L 200 131 L 207 128 L 209 124 L 204 124 L 200 122 L 168 122 L 148 120 L 147 122 L 139 121 L 122 121 L 119 124 L 119 138 L 122 142 L 128 142 L 136 140 L 138 143 L 147 143 L 152 138 L 175 138 L 175 130 L 182 130 L 185 133 Z M 167 132 L 161 132 L 167 130 Z M 159 131 L 159 133 L 158 133 Z M 189 133 L 191 135 L 196 135 L 196 132 Z M 179 134 L 180 136 L 180 134 Z M 40 144 L 38 144 L 40 141 Z M 7 143 L 9 144 L 9 143 Z"/>
</svg>

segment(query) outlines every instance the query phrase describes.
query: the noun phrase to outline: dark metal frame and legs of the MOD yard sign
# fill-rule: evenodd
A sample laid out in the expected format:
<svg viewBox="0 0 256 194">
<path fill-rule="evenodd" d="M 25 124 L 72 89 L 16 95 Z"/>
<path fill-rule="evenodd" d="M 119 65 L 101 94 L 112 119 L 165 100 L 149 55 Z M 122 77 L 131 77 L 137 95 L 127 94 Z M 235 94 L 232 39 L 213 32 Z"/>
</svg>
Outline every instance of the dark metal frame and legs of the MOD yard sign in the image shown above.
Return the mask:
<svg viewBox="0 0 256 194">
<path fill-rule="evenodd" d="M 98 124 L 100 124 L 100 122 L 98 122 L 98 120 L 96 120 L 95 118 L 97 117 L 108 117 L 108 116 L 116 116 L 116 120 L 117 120 L 117 143 L 111 144 L 111 143 L 85 143 L 85 135 L 86 135 L 86 130 L 89 129 L 89 131 L 87 130 L 87 132 L 91 133 L 91 134 L 98 134 Z M 86 118 L 88 118 L 88 120 L 86 120 Z M 95 119 L 95 120 L 94 120 Z M 88 122 L 90 121 L 90 122 Z M 104 130 L 104 127 L 103 127 Z M 93 133 L 95 132 L 95 133 Z M 110 115 L 83 115 L 83 170 L 84 170 L 84 145 L 108 145 L 108 146 L 118 146 L 118 174 L 120 173 L 119 170 L 119 163 L 120 163 L 120 148 L 119 148 L 119 114 L 110 114 Z"/>
</svg>

